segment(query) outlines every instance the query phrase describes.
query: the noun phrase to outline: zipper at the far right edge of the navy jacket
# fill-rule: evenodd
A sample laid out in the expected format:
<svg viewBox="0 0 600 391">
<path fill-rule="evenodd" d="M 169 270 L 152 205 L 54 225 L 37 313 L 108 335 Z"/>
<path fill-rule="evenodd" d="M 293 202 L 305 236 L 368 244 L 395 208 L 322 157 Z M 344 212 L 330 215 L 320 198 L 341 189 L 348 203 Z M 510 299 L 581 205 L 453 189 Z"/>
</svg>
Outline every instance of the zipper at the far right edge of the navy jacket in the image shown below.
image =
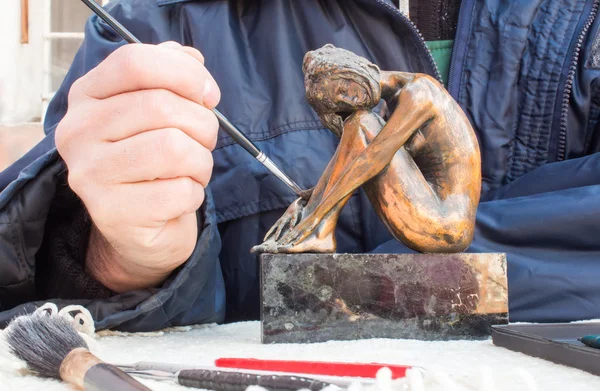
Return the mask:
<svg viewBox="0 0 600 391">
<path fill-rule="evenodd" d="M 571 59 L 571 65 L 569 67 L 569 73 L 567 74 L 567 81 L 565 83 L 565 89 L 563 91 L 562 97 L 562 106 L 560 111 L 560 131 L 558 133 L 558 150 L 556 153 L 556 160 L 562 161 L 565 160 L 565 153 L 567 148 L 567 122 L 569 116 L 569 100 L 571 99 L 571 91 L 573 89 L 573 82 L 575 81 L 575 73 L 577 72 L 577 66 L 579 65 L 579 55 L 581 54 L 581 47 L 583 46 L 583 41 L 585 36 L 587 35 L 590 27 L 594 23 L 594 19 L 596 18 L 596 14 L 598 13 L 598 6 L 600 5 L 600 0 L 594 0 L 594 4 L 592 5 L 592 10 L 590 11 L 590 15 L 588 16 L 583 29 L 579 33 L 577 37 L 577 43 L 575 45 L 575 50 L 573 51 L 573 58 Z"/>
</svg>

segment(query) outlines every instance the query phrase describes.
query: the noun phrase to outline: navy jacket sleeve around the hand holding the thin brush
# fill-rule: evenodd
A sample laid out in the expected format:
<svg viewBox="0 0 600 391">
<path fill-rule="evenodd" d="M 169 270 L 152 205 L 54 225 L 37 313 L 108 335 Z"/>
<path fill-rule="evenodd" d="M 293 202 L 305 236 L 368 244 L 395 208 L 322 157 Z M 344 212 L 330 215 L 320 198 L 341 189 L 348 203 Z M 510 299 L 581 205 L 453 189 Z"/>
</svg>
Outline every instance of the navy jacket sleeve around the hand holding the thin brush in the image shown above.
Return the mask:
<svg viewBox="0 0 600 391">
<path fill-rule="evenodd" d="M 181 42 L 180 37 L 169 35 L 168 7 L 160 9 L 147 2 L 133 7 L 114 1 L 106 9 L 142 42 Z M 4 181 L 0 188 L 0 327 L 16 314 L 48 301 L 59 308 L 85 305 L 97 329 L 149 331 L 224 319 L 225 290 L 218 259 L 221 241 L 210 188 L 198 210 L 196 248 L 160 288 L 114 294 L 83 271 L 90 221 L 68 188 L 66 166 L 53 136 L 67 111 L 73 82 L 124 44 L 99 18 L 88 20 L 85 40 L 49 105 L 46 138 L 0 175 Z"/>
</svg>

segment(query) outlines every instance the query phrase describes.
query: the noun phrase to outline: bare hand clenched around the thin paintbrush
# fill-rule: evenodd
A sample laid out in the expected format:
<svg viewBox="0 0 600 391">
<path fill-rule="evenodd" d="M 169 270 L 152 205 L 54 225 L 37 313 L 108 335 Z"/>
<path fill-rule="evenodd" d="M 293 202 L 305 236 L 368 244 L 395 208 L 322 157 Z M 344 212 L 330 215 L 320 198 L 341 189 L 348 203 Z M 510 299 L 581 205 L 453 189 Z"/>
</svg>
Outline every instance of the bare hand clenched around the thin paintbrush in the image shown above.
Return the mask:
<svg viewBox="0 0 600 391">
<path fill-rule="evenodd" d="M 94 223 L 87 270 L 113 291 L 160 284 L 196 245 L 219 128 L 203 64 L 174 42 L 131 44 L 71 87 L 56 147 Z"/>
</svg>

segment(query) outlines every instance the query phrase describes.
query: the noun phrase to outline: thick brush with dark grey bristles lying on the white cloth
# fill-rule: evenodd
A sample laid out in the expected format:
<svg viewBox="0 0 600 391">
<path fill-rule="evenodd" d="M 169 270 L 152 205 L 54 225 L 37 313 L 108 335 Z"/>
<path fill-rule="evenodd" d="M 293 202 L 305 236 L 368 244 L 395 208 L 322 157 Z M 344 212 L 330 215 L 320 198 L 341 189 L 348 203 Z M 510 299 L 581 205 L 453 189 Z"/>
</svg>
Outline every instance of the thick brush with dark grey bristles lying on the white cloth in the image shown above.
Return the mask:
<svg viewBox="0 0 600 391">
<path fill-rule="evenodd" d="M 91 353 L 73 325 L 60 315 L 20 316 L 5 333 L 11 353 L 39 376 L 62 379 L 86 391 L 150 390 Z"/>
</svg>

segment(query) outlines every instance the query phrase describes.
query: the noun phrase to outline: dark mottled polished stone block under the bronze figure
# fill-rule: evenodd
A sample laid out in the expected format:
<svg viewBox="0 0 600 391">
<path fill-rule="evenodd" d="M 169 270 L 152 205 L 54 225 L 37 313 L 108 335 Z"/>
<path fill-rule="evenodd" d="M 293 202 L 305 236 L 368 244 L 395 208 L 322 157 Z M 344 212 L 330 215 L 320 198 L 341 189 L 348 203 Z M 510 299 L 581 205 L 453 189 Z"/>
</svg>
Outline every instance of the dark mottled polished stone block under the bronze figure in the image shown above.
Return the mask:
<svg viewBox="0 0 600 391">
<path fill-rule="evenodd" d="M 262 254 L 263 343 L 488 338 L 505 254 Z"/>
</svg>

